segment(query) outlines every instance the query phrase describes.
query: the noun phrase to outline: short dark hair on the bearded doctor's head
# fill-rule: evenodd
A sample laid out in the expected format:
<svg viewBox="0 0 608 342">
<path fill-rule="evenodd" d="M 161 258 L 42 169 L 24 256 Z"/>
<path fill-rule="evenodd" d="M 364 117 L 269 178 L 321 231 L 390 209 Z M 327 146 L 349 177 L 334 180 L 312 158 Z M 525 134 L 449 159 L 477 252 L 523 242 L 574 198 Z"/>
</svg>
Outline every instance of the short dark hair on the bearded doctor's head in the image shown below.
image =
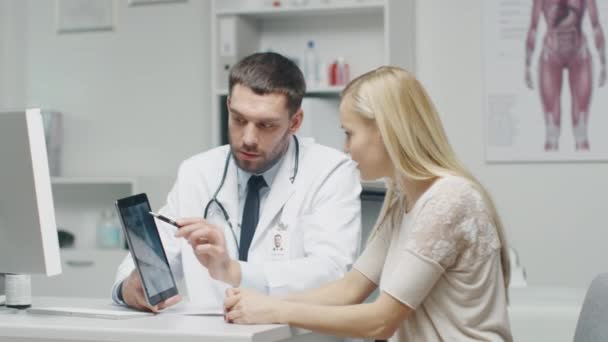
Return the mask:
<svg viewBox="0 0 608 342">
<path fill-rule="evenodd" d="M 229 95 L 232 95 L 232 89 L 237 84 L 258 95 L 285 95 L 289 116 L 300 109 L 306 93 L 306 82 L 300 68 L 287 57 L 275 52 L 254 53 L 235 64 L 228 79 Z"/>
</svg>

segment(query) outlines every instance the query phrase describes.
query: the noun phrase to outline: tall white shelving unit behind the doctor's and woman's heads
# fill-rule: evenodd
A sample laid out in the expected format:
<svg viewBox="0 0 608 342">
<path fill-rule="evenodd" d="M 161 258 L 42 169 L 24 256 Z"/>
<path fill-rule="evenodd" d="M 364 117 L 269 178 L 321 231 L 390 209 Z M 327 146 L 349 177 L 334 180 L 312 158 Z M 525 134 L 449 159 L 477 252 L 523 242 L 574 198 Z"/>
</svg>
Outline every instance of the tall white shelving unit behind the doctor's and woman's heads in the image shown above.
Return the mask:
<svg viewBox="0 0 608 342">
<path fill-rule="evenodd" d="M 415 0 L 283 0 L 278 7 L 272 3 L 212 2 L 211 134 L 216 145 L 228 142 L 225 103 L 229 70 L 251 53 L 272 50 L 301 61 L 306 42 L 313 40 L 321 65 L 344 57 L 351 78 L 381 65 L 415 72 Z M 343 87 L 309 84 L 307 88 L 299 134 L 341 149 L 338 106 Z M 383 189 L 378 184 L 363 184 L 364 195 L 378 199 Z"/>
</svg>

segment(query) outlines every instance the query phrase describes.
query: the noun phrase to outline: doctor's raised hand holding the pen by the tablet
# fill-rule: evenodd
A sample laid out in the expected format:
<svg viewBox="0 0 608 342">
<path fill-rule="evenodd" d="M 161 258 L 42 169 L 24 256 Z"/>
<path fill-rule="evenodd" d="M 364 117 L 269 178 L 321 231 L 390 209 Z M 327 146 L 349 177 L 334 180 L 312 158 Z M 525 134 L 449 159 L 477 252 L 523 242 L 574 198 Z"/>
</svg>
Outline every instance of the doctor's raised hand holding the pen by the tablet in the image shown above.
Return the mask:
<svg viewBox="0 0 608 342">
<path fill-rule="evenodd" d="M 213 279 L 233 286 L 241 283 L 241 265 L 230 258 L 222 230 L 202 218 L 178 220 L 176 237 L 188 241 L 198 261 L 207 268 Z"/>
</svg>

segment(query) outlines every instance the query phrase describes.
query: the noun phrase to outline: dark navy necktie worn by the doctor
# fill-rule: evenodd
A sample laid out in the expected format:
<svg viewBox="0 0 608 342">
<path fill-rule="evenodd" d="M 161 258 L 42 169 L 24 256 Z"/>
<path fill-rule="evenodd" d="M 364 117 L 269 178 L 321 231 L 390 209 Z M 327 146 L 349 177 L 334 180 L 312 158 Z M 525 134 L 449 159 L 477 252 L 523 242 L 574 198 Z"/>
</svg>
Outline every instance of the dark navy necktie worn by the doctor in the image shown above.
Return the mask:
<svg viewBox="0 0 608 342">
<path fill-rule="evenodd" d="M 247 182 L 247 199 L 241 222 L 241 241 L 239 243 L 239 260 L 247 261 L 249 246 L 260 219 L 260 189 L 266 186 L 262 176 L 251 176 Z"/>
</svg>

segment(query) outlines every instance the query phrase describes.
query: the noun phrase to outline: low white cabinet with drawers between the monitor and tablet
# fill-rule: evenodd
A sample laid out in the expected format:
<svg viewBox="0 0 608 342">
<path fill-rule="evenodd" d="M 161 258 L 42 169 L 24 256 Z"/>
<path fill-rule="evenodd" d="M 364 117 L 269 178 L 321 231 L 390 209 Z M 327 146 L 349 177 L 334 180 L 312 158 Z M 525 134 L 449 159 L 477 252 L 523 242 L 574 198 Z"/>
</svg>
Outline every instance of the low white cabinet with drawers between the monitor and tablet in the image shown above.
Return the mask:
<svg viewBox="0 0 608 342">
<path fill-rule="evenodd" d="M 51 183 L 57 227 L 74 234 L 75 244 L 60 250 L 60 275 L 32 276 L 32 293 L 109 298 L 116 269 L 127 251 L 97 248 L 97 223 L 102 210 L 114 210 L 114 201 L 136 192 L 135 179 L 58 177 Z"/>
</svg>

